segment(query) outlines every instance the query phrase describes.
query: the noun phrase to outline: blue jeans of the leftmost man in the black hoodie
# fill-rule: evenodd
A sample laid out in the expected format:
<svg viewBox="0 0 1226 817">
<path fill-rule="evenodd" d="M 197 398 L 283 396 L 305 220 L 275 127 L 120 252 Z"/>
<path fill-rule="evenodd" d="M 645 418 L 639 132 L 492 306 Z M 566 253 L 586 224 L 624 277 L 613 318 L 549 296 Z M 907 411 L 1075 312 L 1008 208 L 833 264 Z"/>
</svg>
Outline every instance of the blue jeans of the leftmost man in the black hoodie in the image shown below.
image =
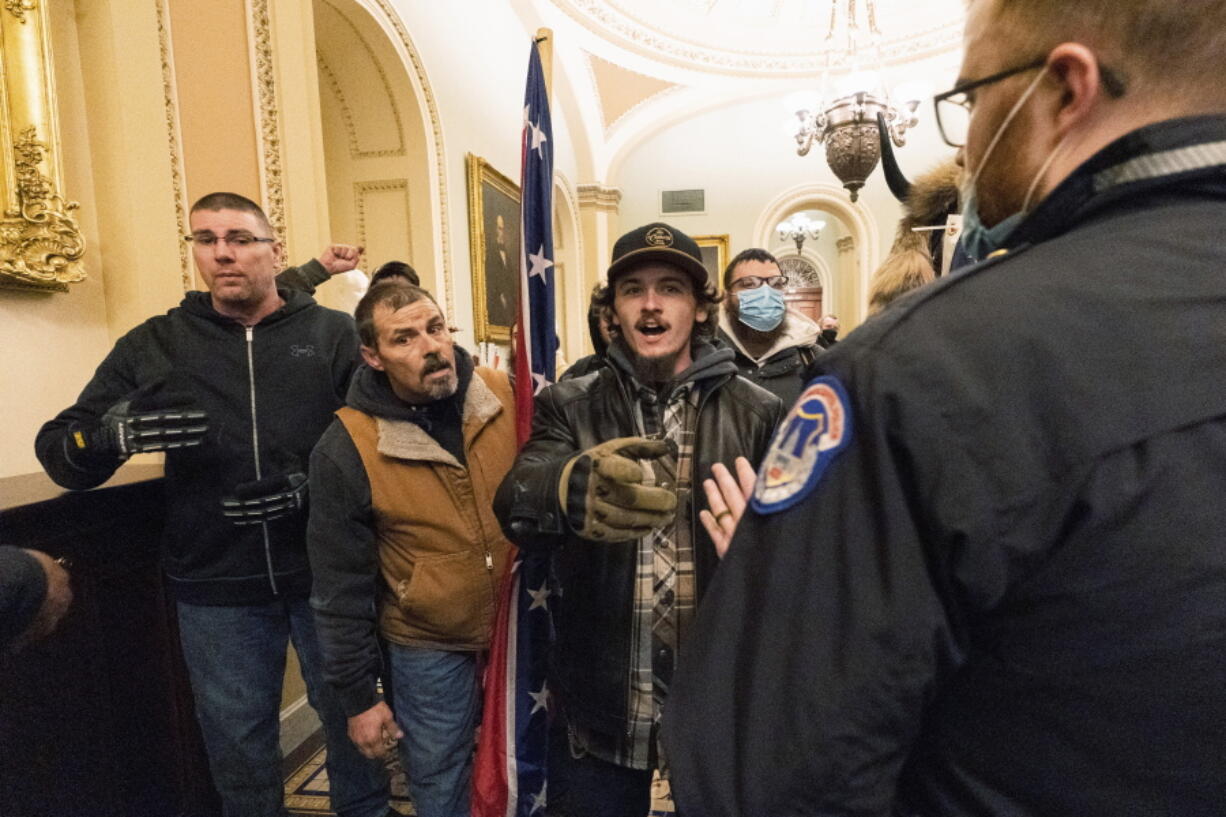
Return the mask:
<svg viewBox="0 0 1226 817">
<path fill-rule="evenodd" d="M 250 607 L 179 604 L 179 638 L 226 817 L 282 817 L 281 689 L 292 638 L 306 699 L 324 724 L 332 810 L 384 817 L 387 775 L 362 757 L 324 681 L 315 621 L 305 599 Z"/>
</svg>

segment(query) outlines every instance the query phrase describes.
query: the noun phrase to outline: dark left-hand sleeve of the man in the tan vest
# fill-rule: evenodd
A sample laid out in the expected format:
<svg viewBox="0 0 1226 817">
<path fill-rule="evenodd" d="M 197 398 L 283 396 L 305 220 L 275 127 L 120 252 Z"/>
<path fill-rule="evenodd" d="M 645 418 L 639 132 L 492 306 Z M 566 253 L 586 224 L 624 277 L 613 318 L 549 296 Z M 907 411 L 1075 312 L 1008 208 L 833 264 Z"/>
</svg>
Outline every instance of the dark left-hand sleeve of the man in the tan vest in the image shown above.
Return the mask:
<svg viewBox="0 0 1226 817">
<path fill-rule="evenodd" d="M 324 677 L 347 716 L 379 702 L 383 658 L 375 619 L 379 562 L 370 482 L 345 426 L 333 420 L 310 456 L 306 548 Z"/>
</svg>

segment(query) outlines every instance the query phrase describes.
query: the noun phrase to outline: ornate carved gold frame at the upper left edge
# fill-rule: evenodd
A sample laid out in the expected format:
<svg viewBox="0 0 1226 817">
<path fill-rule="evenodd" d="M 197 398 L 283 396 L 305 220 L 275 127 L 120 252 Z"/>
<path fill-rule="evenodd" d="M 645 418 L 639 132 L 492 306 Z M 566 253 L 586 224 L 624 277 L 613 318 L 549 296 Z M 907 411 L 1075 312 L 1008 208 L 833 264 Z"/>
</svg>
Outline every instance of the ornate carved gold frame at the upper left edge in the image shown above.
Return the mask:
<svg viewBox="0 0 1226 817">
<path fill-rule="evenodd" d="M 85 238 L 60 194 L 47 4 L 0 10 L 0 288 L 67 292 L 86 277 Z"/>
</svg>

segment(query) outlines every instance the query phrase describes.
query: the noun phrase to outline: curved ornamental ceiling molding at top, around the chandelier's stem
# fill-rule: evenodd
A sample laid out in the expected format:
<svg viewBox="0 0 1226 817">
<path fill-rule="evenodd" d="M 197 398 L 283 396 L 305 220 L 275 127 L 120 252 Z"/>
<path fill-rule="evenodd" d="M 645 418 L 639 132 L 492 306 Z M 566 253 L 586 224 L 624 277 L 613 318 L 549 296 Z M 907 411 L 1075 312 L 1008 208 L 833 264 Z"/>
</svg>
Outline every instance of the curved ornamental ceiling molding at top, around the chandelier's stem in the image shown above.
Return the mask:
<svg viewBox="0 0 1226 817">
<path fill-rule="evenodd" d="M 814 37 L 809 38 L 807 44 L 797 42 L 793 53 L 780 48 L 777 38 L 774 42 L 763 39 L 758 50 L 732 49 L 666 33 L 655 25 L 614 7 L 609 0 L 553 0 L 553 4 L 585 28 L 606 39 L 645 56 L 682 67 L 755 76 L 813 75 L 825 67 L 825 53 L 821 49 L 824 29 L 814 29 Z M 888 13 L 883 12 L 881 17 L 886 18 Z M 896 64 L 950 52 L 961 44 L 962 25 L 964 18 L 960 15 L 945 18 L 939 15 L 922 15 L 913 21 L 912 28 L 883 39 L 881 59 L 886 64 Z M 744 31 L 736 31 L 731 23 L 727 27 L 727 37 L 720 37 L 718 42 L 754 44 Z M 831 67 L 841 70 L 847 65 L 835 61 Z"/>
</svg>

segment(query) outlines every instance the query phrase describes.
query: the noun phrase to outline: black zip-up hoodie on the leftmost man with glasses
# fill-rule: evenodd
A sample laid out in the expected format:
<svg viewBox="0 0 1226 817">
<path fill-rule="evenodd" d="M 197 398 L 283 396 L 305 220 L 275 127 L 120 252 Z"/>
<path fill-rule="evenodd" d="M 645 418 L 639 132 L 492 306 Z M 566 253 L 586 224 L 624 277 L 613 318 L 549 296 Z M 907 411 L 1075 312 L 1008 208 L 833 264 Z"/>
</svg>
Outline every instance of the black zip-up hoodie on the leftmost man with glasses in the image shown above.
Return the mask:
<svg viewBox="0 0 1226 817">
<path fill-rule="evenodd" d="M 208 413 L 204 443 L 166 456 L 163 564 L 175 596 L 189 604 L 254 605 L 310 590 L 305 514 L 243 527 L 222 515 L 235 486 L 306 472 L 357 366 L 349 315 L 278 292 L 286 303 L 250 329 L 215 310 L 207 292 L 189 292 L 119 339 L 76 404 L 34 440 L 50 477 L 83 489 L 119 464 L 74 460 L 72 431 L 96 424 L 136 389 L 166 382 Z"/>
</svg>

